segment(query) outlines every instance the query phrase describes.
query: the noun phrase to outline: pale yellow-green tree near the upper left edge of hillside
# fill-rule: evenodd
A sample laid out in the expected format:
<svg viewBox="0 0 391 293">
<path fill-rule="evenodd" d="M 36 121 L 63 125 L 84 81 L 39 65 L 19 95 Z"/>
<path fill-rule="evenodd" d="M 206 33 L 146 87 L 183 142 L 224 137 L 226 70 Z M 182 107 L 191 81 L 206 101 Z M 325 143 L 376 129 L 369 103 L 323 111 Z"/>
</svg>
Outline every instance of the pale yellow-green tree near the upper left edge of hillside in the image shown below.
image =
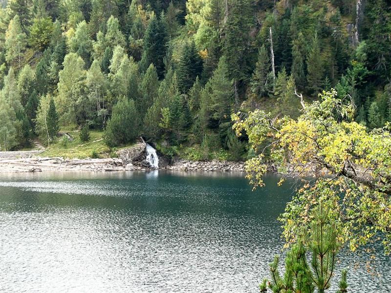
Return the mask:
<svg viewBox="0 0 391 293">
<path fill-rule="evenodd" d="M 26 49 L 26 35 L 22 31 L 19 15 L 15 15 L 9 22 L 5 32 L 5 60 L 10 64 L 21 65 L 24 50 Z"/>
</svg>

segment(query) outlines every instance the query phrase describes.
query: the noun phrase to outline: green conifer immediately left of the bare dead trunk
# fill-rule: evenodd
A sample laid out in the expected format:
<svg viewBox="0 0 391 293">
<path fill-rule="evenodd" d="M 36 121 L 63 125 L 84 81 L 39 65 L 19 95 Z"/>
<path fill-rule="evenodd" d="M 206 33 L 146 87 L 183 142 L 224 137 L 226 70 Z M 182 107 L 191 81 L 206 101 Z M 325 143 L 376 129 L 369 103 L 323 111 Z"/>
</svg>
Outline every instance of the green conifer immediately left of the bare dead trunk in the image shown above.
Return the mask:
<svg viewBox="0 0 391 293">
<path fill-rule="evenodd" d="M 260 99 L 271 91 L 273 81 L 270 79 L 270 58 L 264 45 L 258 52 L 258 62 L 250 82 L 250 96 Z"/>
</svg>

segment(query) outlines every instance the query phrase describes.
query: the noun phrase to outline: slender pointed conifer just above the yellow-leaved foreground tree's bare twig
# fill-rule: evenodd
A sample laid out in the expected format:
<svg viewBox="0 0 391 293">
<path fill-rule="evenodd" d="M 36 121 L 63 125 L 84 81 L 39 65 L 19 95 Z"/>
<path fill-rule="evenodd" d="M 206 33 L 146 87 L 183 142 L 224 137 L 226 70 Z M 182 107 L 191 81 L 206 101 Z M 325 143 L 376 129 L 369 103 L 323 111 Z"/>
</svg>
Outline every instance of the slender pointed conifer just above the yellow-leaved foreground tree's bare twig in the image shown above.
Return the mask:
<svg viewBox="0 0 391 293">
<path fill-rule="evenodd" d="M 317 94 L 323 85 L 323 64 L 317 33 L 312 40 L 312 46 L 307 57 L 307 82 L 312 93 Z"/>
</svg>

